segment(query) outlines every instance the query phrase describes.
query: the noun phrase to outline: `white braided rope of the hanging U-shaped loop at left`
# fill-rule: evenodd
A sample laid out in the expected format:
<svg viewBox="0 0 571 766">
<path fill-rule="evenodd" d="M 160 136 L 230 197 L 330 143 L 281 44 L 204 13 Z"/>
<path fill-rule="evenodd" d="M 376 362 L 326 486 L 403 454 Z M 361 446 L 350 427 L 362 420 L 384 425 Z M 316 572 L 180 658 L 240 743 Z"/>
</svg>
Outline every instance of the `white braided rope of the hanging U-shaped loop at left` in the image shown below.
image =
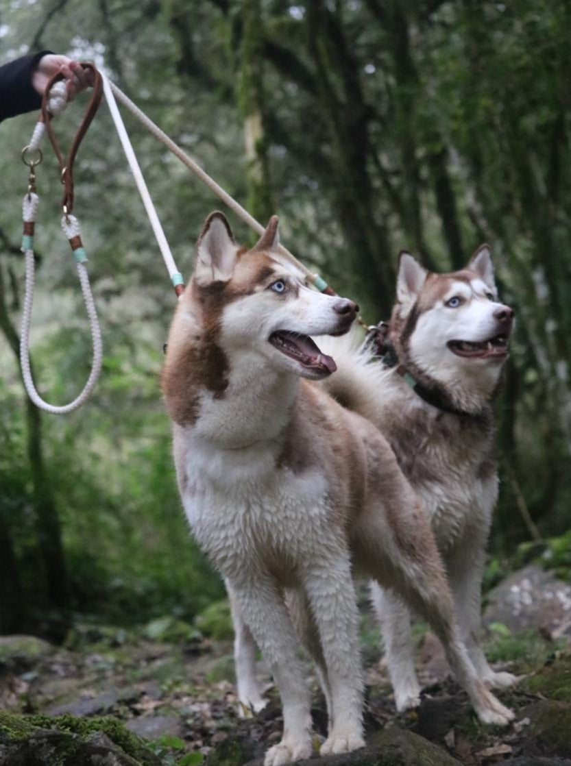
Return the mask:
<svg viewBox="0 0 571 766">
<path fill-rule="evenodd" d="M 36 212 L 38 211 L 39 198 L 36 194 L 25 195 L 24 203 L 22 205 L 24 209 L 24 220 L 34 221 Z M 61 219 L 61 227 L 64 229 L 64 233 L 67 236 L 68 232 L 71 232 L 71 236 L 77 236 L 80 232 L 79 222 L 74 215 L 69 215 Z M 69 237 L 68 237 L 69 238 Z M 101 340 L 101 330 L 99 321 L 97 319 L 97 311 L 95 309 L 94 296 L 91 293 L 91 287 L 89 283 L 89 275 L 85 264 L 77 264 L 77 273 L 79 275 L 81 293 L 84 296 L 85 308 L 87 310 L 87 319 L 89 320 L 91 340 L 93 342 L 93 360 L 91 362 L 91 372 L 87 383 L 84 386 L 83 391 L 69 404 L 62 404 L 57 406 L 54 404 L 48 404 L 47 401 L 41 398 L 40 394 L 34 385 L 34 379 L 31 375 L 30 368 L 30 325 L 31 325 L 31 309 L 34 303 L 34 281 L 35 281 L 35 264 L 34 264 L 34 250 L 26 248 L 25 250 L 25 262 L 26 262 L 26 278 L 25 278 L 25 294 L 24 294 L 24 310 L 21 317 L 21 338 L 20 338 L 20 365 L 22 378 L 24 378 L 24 385 L 28 396 L 31 401 L 34 402 L 36 407 L 39 407 L 45 412 L 50 412 L 54 415 L 63 415 L 67 412 L 77 410 L 81 404 L 93 391 L 97 378 L 99 378 L 101 372 L 101 362 L 103 359 L 103 342 Z"/>
</svg>

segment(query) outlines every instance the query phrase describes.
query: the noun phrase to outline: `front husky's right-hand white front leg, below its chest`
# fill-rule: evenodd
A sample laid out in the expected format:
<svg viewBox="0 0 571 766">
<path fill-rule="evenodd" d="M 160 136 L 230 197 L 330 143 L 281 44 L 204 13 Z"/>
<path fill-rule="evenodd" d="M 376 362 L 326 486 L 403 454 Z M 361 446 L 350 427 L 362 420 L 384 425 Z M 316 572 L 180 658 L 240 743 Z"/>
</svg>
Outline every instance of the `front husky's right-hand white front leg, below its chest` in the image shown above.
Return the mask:
<svg viewBox="0 0 571 766">
<path fill-rule="evenodd" d="M 321 746 L 326 755 L 356 750 L 365 741 L 359 611 L 349 554 L 330 540 L 323 541 L 323 552 L 304 569 L 303 583 L 330 688 L 330 731 Z"/>
</svg>

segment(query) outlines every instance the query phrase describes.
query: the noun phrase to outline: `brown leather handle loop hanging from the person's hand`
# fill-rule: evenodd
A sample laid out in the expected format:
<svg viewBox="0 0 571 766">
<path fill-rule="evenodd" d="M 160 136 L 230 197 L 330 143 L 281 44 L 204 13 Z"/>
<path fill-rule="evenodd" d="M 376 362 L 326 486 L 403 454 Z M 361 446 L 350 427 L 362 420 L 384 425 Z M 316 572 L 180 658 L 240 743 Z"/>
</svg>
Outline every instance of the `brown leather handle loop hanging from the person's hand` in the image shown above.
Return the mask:
<svg viewBox="0 0 571 766">
<path fill-rule="evenodd" d="M 48 110 L 48 95 L 50 89 L 52 85 L 58 80 L 64 79 L 63 74 L 57 73 L 51 77 L 45 87 L 44 97 L 41 100 L 41 119 L 44 121 L 46 133 L 48 133 L 51 141 L 51 146 L 54 147 L 57 162 L 60 165 L 61 182 L 64 185 L 64 198 L 61 202 L 61 205 L 64 208 L 65 214 L 71 213 L 71 211 L 74 209 L 74 162 L 77 155 L 77 150 L 79 149 L 80 143 L 83 141 L 84 136 L 87 133 L 87 129 L 94 119 L 94 116 L 97 114 L 97 110 L 99 109 L 99 105 L 101 103 L 101 97 L 103 96 L 103 80 L 95 64 L 92 64 L 90 61 L 82 61 L 81 66 L 84 67 L 84 69 L 90 70 L 93 74 L 93 93 L 91 94 L 90 102 L 87 105 L 84 119 L 82 119 L 79 129 L 77 129 L 77 133 L 75 134 L 74 140 L 71 143 L 67 159 L 65 160 L 61 154 L 61 149 L 57 143 L 54 129 L 51 125 L 52 115 Z"/>
</svg>

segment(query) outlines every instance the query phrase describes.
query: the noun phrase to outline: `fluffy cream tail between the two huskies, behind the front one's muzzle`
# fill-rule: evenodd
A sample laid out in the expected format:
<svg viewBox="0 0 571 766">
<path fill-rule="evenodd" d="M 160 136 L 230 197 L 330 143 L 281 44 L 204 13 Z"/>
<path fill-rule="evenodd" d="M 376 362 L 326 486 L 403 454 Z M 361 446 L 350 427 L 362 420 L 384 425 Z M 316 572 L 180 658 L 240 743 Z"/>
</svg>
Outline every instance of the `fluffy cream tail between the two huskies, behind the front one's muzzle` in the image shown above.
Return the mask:
<svg viewBox="0 0 571 766">
<path fill-rule="evenodd" d="M 339 338 L 321 336 L 320 349 L 333 356 L 337 372 L 323 381 L 328 393 L 343 407 L 359 413 L 377 427 L 380 425 L 383 391 L 389 392 L 394 370 L 387 368 L 363 345 L 359 329 Z"/>
</svg>

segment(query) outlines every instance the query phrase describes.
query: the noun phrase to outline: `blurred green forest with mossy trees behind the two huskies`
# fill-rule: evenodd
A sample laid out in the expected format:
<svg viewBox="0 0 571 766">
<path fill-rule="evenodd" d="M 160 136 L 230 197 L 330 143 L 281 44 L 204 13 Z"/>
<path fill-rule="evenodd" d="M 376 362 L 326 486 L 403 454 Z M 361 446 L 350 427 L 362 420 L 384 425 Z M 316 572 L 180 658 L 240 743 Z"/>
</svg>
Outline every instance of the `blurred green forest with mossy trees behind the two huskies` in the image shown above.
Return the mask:
<svg viewBox="0 0 571 766">
<path fill-rule="evenodd" d="M 4 0 L 0 61 L 48 48 L 107 67 L 255 217 L 280 214 L 284 244 L 367 322 L 389 316 L 399 250 L 451 270 L 491 244 L 517 315 L 491 581 L 525 542 L 571 565 L 569 29 L 569 0 Z M 85 100 L 58 120 L 62 142 Z M 104 104 L 75 172 L 100 383 L 67 417 L 41 414 L 21 384 L 20 152 L 34 119 L 0 126 L 0 632 L 192 620 L 223 588 L 186 529 L 159 392 L 175 297 Z M 221 203 L 126 119 L 188 275 Z M 87 377 L 90 339 L 45 154 L 32 356 L 61 402 Z"/>
</svg>

